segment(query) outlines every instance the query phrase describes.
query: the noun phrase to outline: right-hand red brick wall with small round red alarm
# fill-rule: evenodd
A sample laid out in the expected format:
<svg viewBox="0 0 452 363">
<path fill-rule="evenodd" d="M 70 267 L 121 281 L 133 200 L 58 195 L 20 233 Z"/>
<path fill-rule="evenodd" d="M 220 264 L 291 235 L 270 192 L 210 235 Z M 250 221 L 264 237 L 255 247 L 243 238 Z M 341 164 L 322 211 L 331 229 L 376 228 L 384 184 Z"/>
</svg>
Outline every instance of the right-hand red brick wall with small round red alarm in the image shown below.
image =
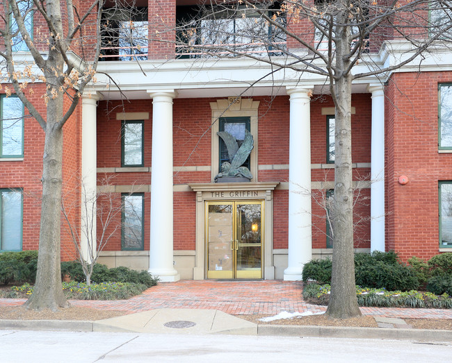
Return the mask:
<svg viewBox="0 0 452 363">
<path fill-rule="evenodd" d="M 437 85 L 451 81 L 451 72 L 405 73 L 387 86 L 387 248 L 403 260 L 438 253 L 438 181 L 452 180 L 452 154 L 438 153 Z"/>
</svg>

